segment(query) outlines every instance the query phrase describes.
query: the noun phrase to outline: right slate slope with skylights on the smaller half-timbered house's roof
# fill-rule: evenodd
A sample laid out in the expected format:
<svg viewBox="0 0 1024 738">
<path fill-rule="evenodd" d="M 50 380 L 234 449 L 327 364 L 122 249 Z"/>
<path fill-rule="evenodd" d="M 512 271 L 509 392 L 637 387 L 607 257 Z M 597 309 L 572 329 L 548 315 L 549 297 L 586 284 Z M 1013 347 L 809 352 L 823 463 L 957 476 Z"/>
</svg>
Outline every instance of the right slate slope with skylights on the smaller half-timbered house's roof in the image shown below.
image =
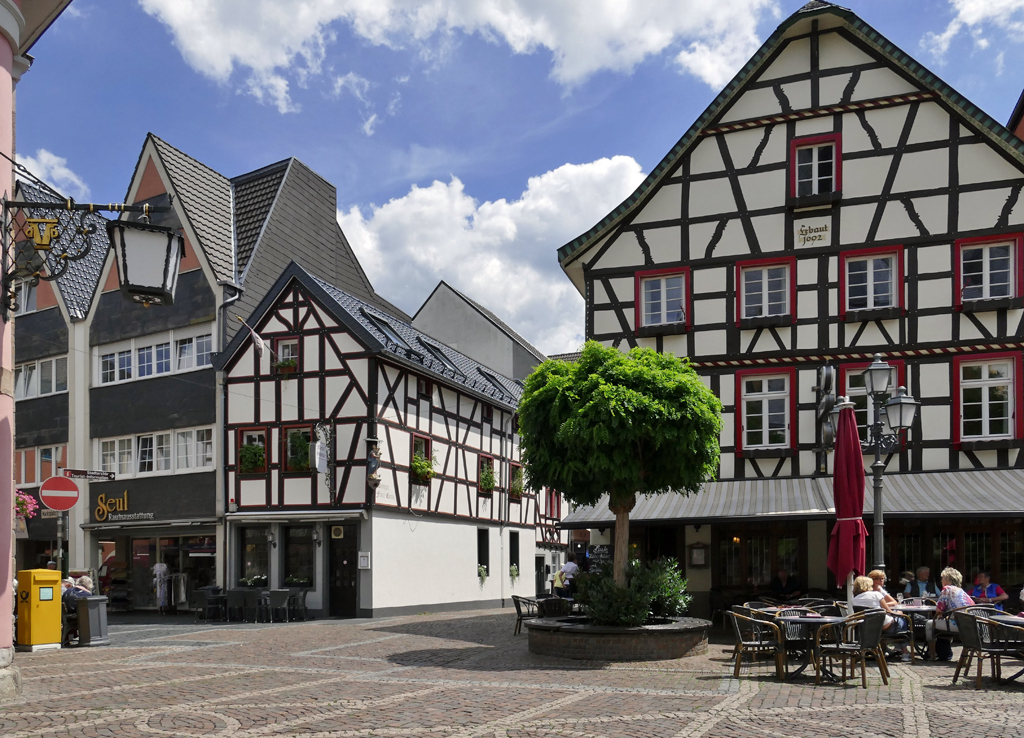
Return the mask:
<svg viewBox="0 0 1024 738">
<path fill-rule="evenodd" d="M 295 266 L 316 283 L 324 292 L 331 296 L 341 309 L 373 336 L 381 345 L 383 353 L 389 353 L 406 361 L 414 361 L 421 364 L 428 372 L 442 377 L 450 384 L 462 385 L 472 390 L 475 394 L 486 395 L 490 401 L 504 405 L 507 408 L 514 408 L 519 404 L 522 387 L 515 380 L 500 375 L 494 370 L 484 366 L 479 361 L 475 361 L 437 339 L 431 338 L 422 331 L 417 331 L 407 320 L 386 313 L 376 306 L 353 297 L 333 285 L 329 285 L 323 279 L 309 274 L 297 264 Z M 404 340 L 408 348 L 397 345 L 389 339 L 380 327 L 374 322 L 373 317 L 386 320 L 387 324 L 398 334 L 398 337 Z M 431 355 L 430 350 L 424 348 L 424 343 L 441 351 L 456 366 L 458 373 L 452 372 Z M 488 378 L 494 378 L 501 389 L 496 388 L 495 384 Z"/>
</svg>

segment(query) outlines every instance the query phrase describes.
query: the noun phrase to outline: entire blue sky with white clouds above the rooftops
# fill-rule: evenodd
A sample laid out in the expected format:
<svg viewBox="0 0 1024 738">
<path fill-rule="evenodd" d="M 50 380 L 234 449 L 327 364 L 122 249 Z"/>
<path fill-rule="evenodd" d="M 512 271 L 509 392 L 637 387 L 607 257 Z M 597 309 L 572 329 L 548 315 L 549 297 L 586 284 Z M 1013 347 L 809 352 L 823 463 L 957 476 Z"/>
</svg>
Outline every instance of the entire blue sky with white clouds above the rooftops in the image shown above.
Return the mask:
<svg viewBox="0 0 1024 738">
<path fill-rule="evenodd" d="M 147 132 L 225 176 L 296 157 L 375 289 L 438 280 L 546 353 L 556 251 L 625 200 L 803 0 L 74 0 L 17 86 L 19 161 L 119 202 Z M 1006 122 L 1024 0 L 843 3 Z"/>
</svg>

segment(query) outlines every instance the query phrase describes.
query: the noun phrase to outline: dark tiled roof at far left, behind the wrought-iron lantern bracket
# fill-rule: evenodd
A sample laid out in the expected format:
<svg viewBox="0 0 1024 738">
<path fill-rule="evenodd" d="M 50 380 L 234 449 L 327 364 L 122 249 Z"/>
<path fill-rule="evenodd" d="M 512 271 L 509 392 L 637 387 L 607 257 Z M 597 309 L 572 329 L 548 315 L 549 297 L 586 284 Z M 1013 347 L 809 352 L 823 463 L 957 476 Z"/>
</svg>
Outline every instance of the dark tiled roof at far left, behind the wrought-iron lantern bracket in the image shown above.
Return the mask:
<svg viewBox="0 0 1024 738">
<path fill-rule="evenodd" d="M 63 199 L 57 197 L 49 189 L 18 180 L 17 187 L 20 192 L 19 199 L 35 203 L 55 203 L 63 204 Z M 41 210 L 32 211 L 34 218 L 56 218 L 59 221 L 57 226 L 60 236 L 57 238 L 55 251 L 62 249 L 61 244 L 75 237 L 75 233 L 81 223 L 82 213 L 69 212 L 67 210 Z M 65 305 L 71 319 L 82 320 L 89 312 L 92 298 L 96 294 L 99 286 L 99 277 L 103 270 L 103 262 L 106 261 L 106 253 L 111 250 L 111 242 L 106 237 L 106 218 L 95 213 L 85 214 L 85 224 L 95 226 L 96 230 L 92 234 L 92 247 L 89 253 L 81 259 L 71 262 L 68 270 L 56 278 L 56 287 L 60 292 Z"/>
</svg>

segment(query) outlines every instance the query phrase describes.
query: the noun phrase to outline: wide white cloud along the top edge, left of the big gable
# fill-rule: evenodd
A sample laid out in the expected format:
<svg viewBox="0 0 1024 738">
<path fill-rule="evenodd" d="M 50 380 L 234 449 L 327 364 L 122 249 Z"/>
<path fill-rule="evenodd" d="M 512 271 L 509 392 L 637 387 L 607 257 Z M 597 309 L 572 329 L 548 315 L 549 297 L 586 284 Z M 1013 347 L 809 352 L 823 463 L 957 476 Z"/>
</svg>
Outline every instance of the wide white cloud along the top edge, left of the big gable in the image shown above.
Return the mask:
<svg viewBox="0 0 1024 738">
<path fill-rule="evenodd" d="M 1006 1 L 1006 0 L 1004 0 Z M 546 49 L 552 77 L 571 87 L 593 74 L 631 72 L 666 50 L 681 71 L 719 88 L 757 49 L 759 20 L 775 0 L 138 0 L 170 30 L 185 60 L 226 83 L 248 71 L 248 91 L 282 113 L 298 110 L 286 72 L 300 84 L 321 72 L 332 25 L 390 48 L 445 48 L 455 32 L 504 42 L 515 53 Z M 443 55 L 443 54 L 441 54 Z"/>
</svg>

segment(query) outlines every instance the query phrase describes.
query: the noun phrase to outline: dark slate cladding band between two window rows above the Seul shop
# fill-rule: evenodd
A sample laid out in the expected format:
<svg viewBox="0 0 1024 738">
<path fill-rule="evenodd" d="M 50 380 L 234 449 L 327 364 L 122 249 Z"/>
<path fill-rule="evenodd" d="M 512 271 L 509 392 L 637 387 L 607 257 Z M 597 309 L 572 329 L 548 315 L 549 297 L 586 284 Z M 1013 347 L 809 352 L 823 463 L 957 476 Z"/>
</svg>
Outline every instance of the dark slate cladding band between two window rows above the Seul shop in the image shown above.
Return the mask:
<svg viewBox="0 0 1024 738">
<path fill-rule="evenodd" d="M 89 390 L 89 435 L 112 438 L 168 428 L 213 425 L 216 420 L 214 382 L 215 373 L 208 368 L 93 387 Z"/>
</svg>

